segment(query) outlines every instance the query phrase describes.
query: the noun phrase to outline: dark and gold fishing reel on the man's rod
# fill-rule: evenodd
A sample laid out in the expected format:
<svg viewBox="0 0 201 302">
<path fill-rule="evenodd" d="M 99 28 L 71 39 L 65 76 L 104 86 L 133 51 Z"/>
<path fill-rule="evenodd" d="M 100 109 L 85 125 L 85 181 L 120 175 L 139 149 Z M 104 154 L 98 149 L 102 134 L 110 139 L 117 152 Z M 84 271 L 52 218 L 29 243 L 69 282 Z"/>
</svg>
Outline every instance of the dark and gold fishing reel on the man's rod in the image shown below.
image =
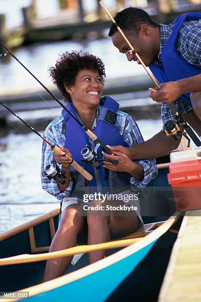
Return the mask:
<svg viewBox="0 0 201 302">
<path fill-rule="evenodd" d="M 180 118 L 182 118 L 182 117 L 180 117 L 180 116 L 178 116 L 178 117 L 179 117 L 179 121 L 180 121 Z M 181 126 L 185 125 L 183 118 L 182 118 L 181 122 L 179 122 L 179 125 L 181 125 Z M 191 140 L 187 136 L 186 132 L 181 131 L 181 129 L 179 128 L 179 125 L 176 122 L 174 123 L 172 120 L 168 120 L 163 125 L 164 129 L 162 131 L 164 133 L 166 133 L 167 136 L 172 136 L 176 141 L 180 140 L 181 136 L 183 135 L 188 140 L 187 147 L 190 147 Z"/>
</svg>

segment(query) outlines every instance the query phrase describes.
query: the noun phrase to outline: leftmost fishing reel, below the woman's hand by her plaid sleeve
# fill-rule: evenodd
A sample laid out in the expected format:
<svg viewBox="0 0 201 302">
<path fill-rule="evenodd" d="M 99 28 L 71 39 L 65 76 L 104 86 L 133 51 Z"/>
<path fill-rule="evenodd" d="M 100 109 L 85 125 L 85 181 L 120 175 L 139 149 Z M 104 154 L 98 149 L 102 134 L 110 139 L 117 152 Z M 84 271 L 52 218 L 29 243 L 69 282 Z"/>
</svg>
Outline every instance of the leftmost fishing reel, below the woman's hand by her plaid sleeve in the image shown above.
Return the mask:
<svg viewBox="0 0 201 302">
<path fill-rule="evenodd" d="M 51 164 L 45 166 L 44 174 L 48 179 L 54 179 L 58 183 L 64 185 L 66 183 L 66 171 L 60 168 L 60 165 L 56 162 L 56 160 L 52 159 Z"/>
</svg>

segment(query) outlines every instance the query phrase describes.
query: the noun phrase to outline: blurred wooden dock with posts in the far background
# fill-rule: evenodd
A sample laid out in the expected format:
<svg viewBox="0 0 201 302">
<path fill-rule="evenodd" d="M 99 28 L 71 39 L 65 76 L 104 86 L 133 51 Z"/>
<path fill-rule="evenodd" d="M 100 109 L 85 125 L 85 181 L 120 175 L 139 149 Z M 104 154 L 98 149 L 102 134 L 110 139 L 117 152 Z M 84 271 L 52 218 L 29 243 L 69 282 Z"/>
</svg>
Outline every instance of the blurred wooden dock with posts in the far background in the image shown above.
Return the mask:
<svg viewBox="0 0 201 302">
<path fill-rule="evenodd" d="M 178 0 L 177 0 L 178 1 Z M 58 41 L 65 39 L 101 38 L 104 30 L 109 28 L 111 21 L 107 15 L 97 6 L 94 12 L 86 13 L 79 0 L 78 9 L 63 9 L 55 16 L 38 19 L 34 5 L 22 8 L 24 22 L 21 27 L 8 30 L 5 25 L 5 15 L 0 15 L 0 40 L 9 47 L 14 48 L 22 44 L 33 42 Z M 158 1 L 163 2 L 163 1 Z M 157 3 L 158 3 L 157 2 Z M 178 15 L 186 11 L 199 11 L 201 4 L 184 3 L 180 0 L 179 6 L 168 7 L 163 10 L 163 5 L 155 4 L 155 8 L 146 7 L 154 21 L 168 24 Z M 123 8 L 123 7 L 122 7 Z M 110 9 L 115 15 L 117 8 Z M 1 49 L 0 49 L 1 50 Z"/>
</svg>

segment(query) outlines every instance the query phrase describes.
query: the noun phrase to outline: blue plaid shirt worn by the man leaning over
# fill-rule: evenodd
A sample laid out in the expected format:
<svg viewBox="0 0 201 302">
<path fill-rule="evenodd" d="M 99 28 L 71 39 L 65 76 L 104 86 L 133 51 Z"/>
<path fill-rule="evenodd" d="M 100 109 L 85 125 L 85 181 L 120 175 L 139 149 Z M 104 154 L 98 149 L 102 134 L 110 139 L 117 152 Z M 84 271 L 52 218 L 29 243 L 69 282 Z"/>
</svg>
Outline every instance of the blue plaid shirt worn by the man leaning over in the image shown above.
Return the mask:
<svg viewBox="0 0 201 302">
<path fill-rule="evenodd" d="M 174 22 L 169 25 L 160 24 L 160 52 L 155 64 L 162 67 L 163 63 L 161 61 L 161 53 L 167 43 L 167 39 L 169 38 L 173 27 Z M 181 57 L 188 63 L 201 68 L 201 19 L 184 22 L 179 30 L 175 48 Z M 181 99 L 177 99 L 174 104 L 177 106 L 178 111 L 181 114 L 189 113 L 193 109 L 190 104 Z M 168 105 L 165 103 L 162 103 L 161 118 L 163 123 L 170 119 L 175 120 L 174 114 L 171 113 Z"/>
</svg>

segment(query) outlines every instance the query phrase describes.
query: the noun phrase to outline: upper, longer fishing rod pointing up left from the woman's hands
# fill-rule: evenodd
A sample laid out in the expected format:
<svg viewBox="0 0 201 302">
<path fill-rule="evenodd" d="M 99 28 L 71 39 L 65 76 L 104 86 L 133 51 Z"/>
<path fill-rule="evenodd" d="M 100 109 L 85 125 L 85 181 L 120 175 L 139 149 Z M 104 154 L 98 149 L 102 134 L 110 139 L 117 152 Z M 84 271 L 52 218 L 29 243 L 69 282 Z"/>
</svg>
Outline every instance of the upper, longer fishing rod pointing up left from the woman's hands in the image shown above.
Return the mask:
<svg viewBox="0 0 201 302">
<path fill-rule="evenodd" d="M 54 94 L 36 76 L 33 75 L 33 73 L 13 54 L 10 49 L 8 49 L 1 41 L 0 45 L 6 49 L 6 52 L 0 55 L 1 57 L 6 56 L 6 54 L 9 53 L 31 76 L 34 77 L 34 79 L 53 97 L 53 99 L 57 103 L 59 103 L 64 108 L 64 110 L 66 110 L 67 113 L 69 113 L 76 120 L 76 122 L 85 130 L 85 132 L 91 138 L 92 141 L 99 145 L 105 153 L 112 155 L 112 151 L 109 150 L 109 148 L 107 148 L 106 145 L 104 145 L 100 141 L 100 139 L 91 130 L 89 130 L 73 113 L 71 113 L 67 109 L 67 107 L 56 96 L 54 96 Z M 118 160 L 112 160 L 111 162 L 116 165 L 118 163 Z"/>
</svg>

